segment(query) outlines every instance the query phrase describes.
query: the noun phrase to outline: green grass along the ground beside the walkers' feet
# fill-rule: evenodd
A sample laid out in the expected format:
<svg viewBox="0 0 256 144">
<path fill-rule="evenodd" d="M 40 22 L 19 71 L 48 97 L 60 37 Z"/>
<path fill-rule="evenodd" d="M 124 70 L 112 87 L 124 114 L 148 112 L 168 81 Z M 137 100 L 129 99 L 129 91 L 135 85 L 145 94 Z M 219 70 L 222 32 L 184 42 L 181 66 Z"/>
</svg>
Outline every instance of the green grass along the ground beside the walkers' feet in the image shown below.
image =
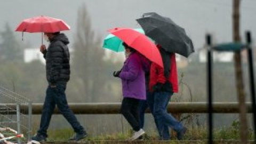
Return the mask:
<svg viewBox="0 0 256 144">
<path fill-rule="evenodd" d="M 74 134 L 71 129 L 61 129 L 49 131 L 49 141 L 67 141 Z M 84 139 L 84 141 L 123 141 L 129 137 L 131 137 L 132 131 L 127 131 L 125 133 L 114 133 L 114 134 L 106 134 L 106 135 L 98 135 L 95 137 L 90 136 Z M 172 132 L 172 139 L 177 140 L 174 137 L 175 132 Z M 185 141 L 207 141 L 208 130 L 207 126 L 191 126 L 188 127 L 188 131 L 183 140 Z M 249 138 L 248 140 L 253 140 L 253 132 L 250 130 L 248 132 Z M 230 127 L 221 127 L 219 129 L 214 129 L 213 137 L 215 140 L 239 140 L 239 123 L 233 122 Z M 155 133 L 147 133 L 144 138 L 146 141 L 156 141 L 157 132 Z"/>
</svg>

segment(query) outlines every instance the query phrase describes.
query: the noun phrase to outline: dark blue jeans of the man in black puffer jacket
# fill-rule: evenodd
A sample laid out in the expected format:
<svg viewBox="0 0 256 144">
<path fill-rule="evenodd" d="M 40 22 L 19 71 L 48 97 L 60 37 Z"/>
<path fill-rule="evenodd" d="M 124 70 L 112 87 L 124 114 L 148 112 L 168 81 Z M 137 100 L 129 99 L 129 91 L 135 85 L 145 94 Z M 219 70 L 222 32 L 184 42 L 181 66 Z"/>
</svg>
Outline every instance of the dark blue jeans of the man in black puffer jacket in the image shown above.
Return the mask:
<svg viewBox="0 0 256 144">
<path fill-rule="evenodd" d="M 83 126 L 81 126 L 77 121 L 76 116 L 68 106 L 65 90 L 66 84 L 56 84 L 56 87 L 51 87 L 49 85 L 47 87 L 40 128 L 37 131 L 39 135 L 47 137 L 47 129 L 49 127 L 55 105 L 57 105 L 60 113 L 67 119 L 76 133 L 82 134 L 85 132 Z"/>
</svg>

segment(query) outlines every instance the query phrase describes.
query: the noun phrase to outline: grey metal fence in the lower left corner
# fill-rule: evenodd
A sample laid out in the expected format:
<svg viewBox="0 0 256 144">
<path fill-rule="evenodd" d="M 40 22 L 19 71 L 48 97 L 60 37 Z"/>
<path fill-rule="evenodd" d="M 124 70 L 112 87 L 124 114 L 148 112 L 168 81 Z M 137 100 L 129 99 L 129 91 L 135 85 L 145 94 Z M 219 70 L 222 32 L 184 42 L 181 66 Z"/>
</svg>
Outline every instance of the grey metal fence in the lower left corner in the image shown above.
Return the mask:
<svg viewBox="0 0 256 144">
<path fill-rule="evenodd" d="M 31 108 L 29 99 L 0 85 L 0 143 L 31 139 Z"/>
</svg>

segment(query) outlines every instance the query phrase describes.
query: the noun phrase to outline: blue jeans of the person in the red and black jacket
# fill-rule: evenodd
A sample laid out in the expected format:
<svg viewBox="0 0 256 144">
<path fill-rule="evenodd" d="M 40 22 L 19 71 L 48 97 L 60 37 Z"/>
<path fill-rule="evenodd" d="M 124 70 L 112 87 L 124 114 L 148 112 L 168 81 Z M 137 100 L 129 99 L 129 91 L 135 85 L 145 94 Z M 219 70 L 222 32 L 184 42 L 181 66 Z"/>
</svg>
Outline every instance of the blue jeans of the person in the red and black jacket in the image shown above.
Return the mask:
<svg viewBox="0 0 256 144">
<path fill-rule="evenodd" d="M 173 93 L 170 92 L 154 93 L 154 116 L 157 121 L 157 129 L 159 133 L 163 133 L 165 131 L 165 126 L 171 127 L 176 132 L 181 131 L 184 127 L 171 114 L 167 113 L 167 105 L 172 94 Z"/>
</svg>

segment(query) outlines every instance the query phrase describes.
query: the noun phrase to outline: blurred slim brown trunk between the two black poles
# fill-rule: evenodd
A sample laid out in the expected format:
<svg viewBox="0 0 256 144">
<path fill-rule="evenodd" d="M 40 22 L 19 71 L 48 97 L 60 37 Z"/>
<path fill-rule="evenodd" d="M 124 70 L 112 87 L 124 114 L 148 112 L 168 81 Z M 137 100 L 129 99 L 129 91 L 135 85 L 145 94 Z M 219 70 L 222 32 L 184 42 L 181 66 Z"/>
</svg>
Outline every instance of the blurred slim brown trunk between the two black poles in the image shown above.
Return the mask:
<svg viewBox="0 0 256 144">
<path fill-rule="evenodd" d="M 233 41 L 240 42 L 239 35 L 239 6 L 240 0 L 233 0 Z M 247 143 L 247 120 L 246 120 L 246 105 L 245 105 L 245 91 L 243 84 L 243 70 L 241 62 L 241 51 L 236 51 L 235 59 L 235 73 L 236 73 L 236 89 L 239 101 L 240 110 L 240 137 L 241 143 Z"/>
</svg>

